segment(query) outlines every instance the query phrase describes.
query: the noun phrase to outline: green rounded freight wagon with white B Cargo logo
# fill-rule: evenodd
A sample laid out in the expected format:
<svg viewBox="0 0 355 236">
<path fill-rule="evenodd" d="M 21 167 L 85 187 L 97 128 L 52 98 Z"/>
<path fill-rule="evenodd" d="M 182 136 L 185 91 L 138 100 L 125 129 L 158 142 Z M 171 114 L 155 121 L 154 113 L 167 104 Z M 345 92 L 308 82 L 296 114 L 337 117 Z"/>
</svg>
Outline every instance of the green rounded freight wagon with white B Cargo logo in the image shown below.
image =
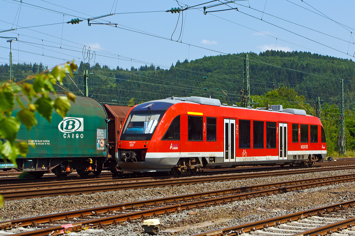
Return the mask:
<svg viewBox="0 0 355 236">
<path fill-rule="evenodd" d="M 55 99 L 54 95 L 50 96 Z M 21 100 L 27 103 L 25 97 Z M 18 111 L 15 110 L 13 115 Z M 82 177 L 91 172 L 99 175 L 103 169 L 117 171 L 116 162 L 107 151 L 109 120 L 97 100 L 76 97 L 66 117 L 61 117 L 53 109 L 51 122 L 37 112 L 36 119 L 37 126 L 27 131 L 22 124 L 17 134 L 17 139 L 29 144 L 27 157 L 17 159 L 18 171 L 30 172 L 37 178 L 49 171 L 61 178 L 73 169 Z"/>
</svg>

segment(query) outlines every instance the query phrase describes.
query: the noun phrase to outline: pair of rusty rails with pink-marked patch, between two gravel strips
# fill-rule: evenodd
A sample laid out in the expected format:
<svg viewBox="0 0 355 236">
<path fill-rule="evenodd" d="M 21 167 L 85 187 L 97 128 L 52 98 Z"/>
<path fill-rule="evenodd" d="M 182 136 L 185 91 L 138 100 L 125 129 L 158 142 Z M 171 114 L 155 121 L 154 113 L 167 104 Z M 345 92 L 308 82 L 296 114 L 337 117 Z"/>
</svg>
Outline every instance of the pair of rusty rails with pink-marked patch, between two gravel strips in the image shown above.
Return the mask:
<svg viewBox="0 0 355 236">
<path fill-rule="evenodd" d="M 323 181 L 324 179 L 326 179 L 326 180 Z M 316 180 L 319 180 L 319 182 L 316 182 Z M 129 212 L 129 213 L 110 215 L 107 217 L 105 216 L 102 218 L 94 218 L 91 220 L 84 220 L 84 221 L 72 224 L 71 226 L 68 226 L 68 224 L 65 224 L 65 225 L 61 225 L 61 226 L 48 227 L 45 229 L 34 230 L 35 232 L 38 232 L 35 234 L 33 234 L 34 231 L 29 231 L 29 232 L 21 233 L 21 234 L 14 234 L 14 236 L 15 235 L 16 236 L 17 235 L 43 235 L 43 234 L 48 234 L 48 233 L 51 233 L 52 231 L 55 231 L 54 234 L 58 235 L 58 234 L 61 234 L 62 232 L 67 231 L 67 230 L 70 230 L 70 231 L 80 230 L 81 225 L 89 225 L 89 224 L 109 225 L 112 223 L 124 222 L 126 220 L 130 221 L 130 220 L 140 219 L 140 218 L 144 219 L 144 218 L 156 216 L 159 214 L 164 214 L 164 213 L 168 214 L 171 212 L 181 211 L 181 210 L 185 210 L 185 209 L 189 210 L 192 208 L 200 208 L 200 207 L 207 207 L 207 206 L 211 206 L 211 205 L 225 204 L 228 202 L 242 200 L 242 199 L 246 199 L 246 198 L 250 198 L 250 197 L 265 196 L 265 195 L 269 195 L 269 194 L 277 194 L 277 193 L 283 193 L 283 192 L 287 192 L 287 191 L 312 188 L 315 186 L 324 186 L 324 185 L 329 185 L 329 184 L 334 184 L 334 183 L 344 183 L 344 182 L 350 182 L 350 181 L 355 181 L 355 174 L 337 175 L 337 176 L 333 176 L 333 177 L 324 177 L 324 178 L 317 178 L 317 179 L 293 180 L 293 181 L 283 182 L 283 183 L 270 183 L 270 184 L 264 184 L 264 185 L 246 186 L 246 187 L 233 188 L 233 189 L 200 192 L 200 193 L 195 193 L 195 194 L 158 198 L 158 199 L 152 199 L 152 200 L 147 200 L 147 201 L 121 203 L 121 204 L 104 206 L 104 207 L 96 207 L 96 208 L 89 208 L 89 209 L 83 209 L 83 210 L 77 210 L 77 211 L 55 213 L 55 214 L 49 214 L 49 215 L 41 215 L 41 216 L 37 216 L 37 217 L 17 219 L 17 220 L 11 220 L 11 221 L 3 221 L 3 222 L 0 222 L 0 229 L 10 228 L 12 225 L 18 225 L 20 223 L 21 223 L 21 226 L 27 226 L 27 225 L 31 225 L 31 224 L 35 225 L 35 224 L 39 224 L 39 223 L 53 222 L 54 220 L 56 220 L 56 221 L 69 220 L 70 218 L 74 218 L 74 217 L 80 218 L 80 217 L 84 217 L 86 215 L 92 215 L 92 212 L 94 212 L 95 214 L 98 214 L 98 213 L 107 213 L 107 212 L 112 212 L 112 211 L 123 211 L 126 209 L 137 209 L 139 207 L 145 208 L 148 206 L 157 206 L 159 204 L 166 205 L 169 203 L 173 203 L 173 205 L 156 207 L 153 209 L 133 211 L 133 212 Z M 303 183 L 303 184 L 291 185 L 291 183 Z M 281 186 L 281 185 L 284 185 L 284 186 Z M 274 188 L 275 186 L 276 186 L 276 188 Z M 270 187 L 272 187 L 272 188 L 270 188 Z M 242 192 L 241 193 L 241 191 L 251 191 L 254 189 L 257 189 L 257 190 L 253 191 L 253 192 Z M 231 194 L 231 195 L 226 195 L 226 194 Z M 206 197 L 209 197 L 209 198 L 206 199 Z M 196 200 L 196 199 L 201 199 L 201 198 L 202 198 L 202 200 Z M 184 201 L 184 202 L 179 203 L 181 201 Z M 77 228 L 77 227 L 79 227 L 79 228 Z M 63 229 L 61 229 L 61 228 L 63 228 Z M 62 231 L 62 230 L 64 230 L 64 231 Z"/>
</svg>

